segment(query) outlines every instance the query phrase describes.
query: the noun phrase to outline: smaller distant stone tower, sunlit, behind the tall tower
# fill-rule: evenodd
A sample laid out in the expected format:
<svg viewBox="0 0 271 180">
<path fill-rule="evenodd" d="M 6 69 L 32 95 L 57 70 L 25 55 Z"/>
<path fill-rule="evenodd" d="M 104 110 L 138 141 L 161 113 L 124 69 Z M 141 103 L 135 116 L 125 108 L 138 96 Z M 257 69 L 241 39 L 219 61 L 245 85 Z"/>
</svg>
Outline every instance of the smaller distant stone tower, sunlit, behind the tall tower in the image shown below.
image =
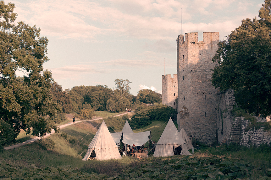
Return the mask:
<svg viewBox="0 0 271 180">
<path fill-rule="evenodd" d="M 162 75 L 162 103 L 177 109 L 176 98 L 178 97 L 177 75 Z"/>
</svg>

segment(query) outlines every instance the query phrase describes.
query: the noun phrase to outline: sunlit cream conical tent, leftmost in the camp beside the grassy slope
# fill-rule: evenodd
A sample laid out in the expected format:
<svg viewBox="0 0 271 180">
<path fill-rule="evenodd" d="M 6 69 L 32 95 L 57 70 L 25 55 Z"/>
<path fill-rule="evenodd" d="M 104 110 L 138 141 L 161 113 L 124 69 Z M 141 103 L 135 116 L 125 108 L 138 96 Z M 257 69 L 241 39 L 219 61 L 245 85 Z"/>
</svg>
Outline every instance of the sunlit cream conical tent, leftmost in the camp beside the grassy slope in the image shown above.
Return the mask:
<svg viewBox="0 0 271 180">
<path fill-rule="evenodd" d="M 107 159 L 120 159 L 119 149 L 114 142 L 110 132 L 104 121 L 93 137 L 91 143 L 87 148 L 87 152 L 84 161 L 87 161 L 91 155 L 91 152 L 94 151 L 96 154 L 95 159 L 97 160 L 107 160 Z"/>
</svg>

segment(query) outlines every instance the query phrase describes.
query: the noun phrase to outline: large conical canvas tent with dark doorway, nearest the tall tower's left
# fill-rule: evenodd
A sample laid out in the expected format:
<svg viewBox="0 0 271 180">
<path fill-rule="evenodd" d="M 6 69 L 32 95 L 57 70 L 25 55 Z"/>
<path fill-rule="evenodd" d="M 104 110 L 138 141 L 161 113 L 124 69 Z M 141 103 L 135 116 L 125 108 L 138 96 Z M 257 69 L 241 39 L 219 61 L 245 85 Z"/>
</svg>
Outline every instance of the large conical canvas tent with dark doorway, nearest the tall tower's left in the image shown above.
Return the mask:
<svg viewBox="0 0 271 180">
<path fill-rule="evenodd" d="M 188 147 L 171 118 L 157 142 L 154 157 L 166 157 L 174 155 L 174 148 L 181 146 L 184 155 L 191 155 Z"/>
</svg>

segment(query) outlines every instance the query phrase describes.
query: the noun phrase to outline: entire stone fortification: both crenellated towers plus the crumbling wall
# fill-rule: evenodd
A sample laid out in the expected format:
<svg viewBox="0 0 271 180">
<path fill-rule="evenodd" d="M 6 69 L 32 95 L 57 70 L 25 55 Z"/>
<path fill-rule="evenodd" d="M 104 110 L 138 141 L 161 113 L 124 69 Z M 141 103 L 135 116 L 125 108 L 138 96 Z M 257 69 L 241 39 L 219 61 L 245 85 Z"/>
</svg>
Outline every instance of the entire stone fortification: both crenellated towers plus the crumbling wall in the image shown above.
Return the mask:
<svg viewBox="0 0 271 180">
<path fill-rule="evenodd" d="M 219 93 L 211 84 L 219 33 L 203 33 L 199 42 L 197 37 L 197 33 L 186 33 L 184 41 L 183 35 L 178 36 L 178 75 L 162 75 L 163 104 L 177 109 L 179 131 L 184 127 L 188 135 L 207 144 L 227 140 L 245 146 L 271 145 L 270 132 L 263 128 L 246 132 L 249 122 L 233 116 L 234 91 Z"/>
</svg>

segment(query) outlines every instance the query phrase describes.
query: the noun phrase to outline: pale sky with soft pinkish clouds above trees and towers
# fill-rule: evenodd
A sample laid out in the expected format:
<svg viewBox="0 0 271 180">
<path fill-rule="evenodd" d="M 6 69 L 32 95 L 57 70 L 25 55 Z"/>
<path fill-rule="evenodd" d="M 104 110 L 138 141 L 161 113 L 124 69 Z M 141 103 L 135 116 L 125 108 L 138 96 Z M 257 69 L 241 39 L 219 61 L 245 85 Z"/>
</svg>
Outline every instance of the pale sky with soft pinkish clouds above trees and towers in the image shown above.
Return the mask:
<svg viewBox="0 0 271 180">
<path fill-rule="evenodd" d="M 130 80 L 130 93 L 162 93 L 162 75 L 177 74 L 176 39 L 219 32 L 258 18 L 263 0 L 16 0 L 17 21 L 49 39 L 43 64 L 64 89 Z M 181 18 L 181 15 L 183 18 Z M 183 22 L 183 23 L 181 23 Z M 182 27 L 182 28 L 181 28 Z M 165 66 L 164 66 L 165 64 Z"/>
</svg>

